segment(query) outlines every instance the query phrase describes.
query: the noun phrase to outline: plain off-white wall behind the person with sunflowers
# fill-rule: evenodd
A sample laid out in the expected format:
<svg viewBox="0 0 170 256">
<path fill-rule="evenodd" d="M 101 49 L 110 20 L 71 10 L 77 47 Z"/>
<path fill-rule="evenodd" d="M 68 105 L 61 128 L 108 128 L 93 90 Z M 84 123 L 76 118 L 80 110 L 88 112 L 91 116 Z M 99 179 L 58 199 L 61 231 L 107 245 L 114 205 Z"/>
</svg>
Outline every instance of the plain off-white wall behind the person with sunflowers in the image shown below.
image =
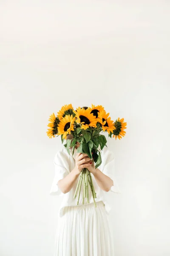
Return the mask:
<svg viewBox="0 0 170 256">
<path fill-rule="evenodd" d="M 115 256 L 170 255 L 170 1 L 0 1 L 0 256 L 52 256 L 62 198 L 49 195 L 62 105 L 103 105 Z"/>
</svg>

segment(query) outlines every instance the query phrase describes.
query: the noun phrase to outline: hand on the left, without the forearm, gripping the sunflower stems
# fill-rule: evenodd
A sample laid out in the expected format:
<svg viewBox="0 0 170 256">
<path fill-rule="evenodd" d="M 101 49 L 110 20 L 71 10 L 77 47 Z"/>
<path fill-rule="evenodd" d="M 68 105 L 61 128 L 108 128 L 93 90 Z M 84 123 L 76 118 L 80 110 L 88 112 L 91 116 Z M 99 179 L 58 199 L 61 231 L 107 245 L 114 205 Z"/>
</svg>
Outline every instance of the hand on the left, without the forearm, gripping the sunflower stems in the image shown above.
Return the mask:
<svg viewBox="0 0 170 256">
<path fill-rule="evenodd" d="M 75 160 L 75 169 L 79 174 L 83 168 L 88 168 L 88 166 L 92 164 L 92 160 L 88 157 L 88 154 L 85 153 L 77 153 Z"/>
</svg>

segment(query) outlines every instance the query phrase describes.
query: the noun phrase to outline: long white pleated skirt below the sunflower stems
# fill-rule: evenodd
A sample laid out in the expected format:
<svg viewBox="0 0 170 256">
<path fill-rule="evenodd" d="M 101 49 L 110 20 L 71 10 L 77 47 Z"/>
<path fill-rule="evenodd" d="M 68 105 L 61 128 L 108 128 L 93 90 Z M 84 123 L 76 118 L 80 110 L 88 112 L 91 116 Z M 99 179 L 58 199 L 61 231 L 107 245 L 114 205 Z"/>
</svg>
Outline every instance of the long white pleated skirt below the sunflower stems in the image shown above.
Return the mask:
<svg viewBox="0 0 170 256">
<path fill-rule="evenodd" d="M 114 256 L 113 235 L 102 201 L 64 207 L 58 218 L 54 256 Z"/>
</svg>

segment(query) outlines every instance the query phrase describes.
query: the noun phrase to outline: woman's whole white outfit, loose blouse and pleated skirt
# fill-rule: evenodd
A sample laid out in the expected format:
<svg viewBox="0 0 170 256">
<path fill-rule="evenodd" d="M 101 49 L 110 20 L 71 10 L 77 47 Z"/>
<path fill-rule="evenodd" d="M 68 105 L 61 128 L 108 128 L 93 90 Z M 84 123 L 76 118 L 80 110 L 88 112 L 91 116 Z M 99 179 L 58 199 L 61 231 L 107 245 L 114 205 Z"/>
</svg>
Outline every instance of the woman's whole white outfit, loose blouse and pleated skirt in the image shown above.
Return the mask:
<svg viewBox="0 0 170 256">
<path fill-rule="evenodd" d="M 114 256 L 113 236 L 108 223 L 111 204 L 107 200 L 107 194 L 121 192 L 114 173 L 113 152 L 106 146 L 103 150 L 98 149 L 102 157 L 102 164 L 98 168 L 113 180 L 113 186 L 109 192 L 105 192 L 100 189 L 94 176 L 91 175 L 97 197 L 95 198 L 97 207 L 94 206 L 90 189 L 90 203 L 87 204 L 85 201 L 85 204 L 82 204 L 83 186 L 77 206 L 74 192 L 78 179 L 66 194 L 63 194 L 57 186 L 58 181 L 74 169 L 77 149 L 75 148 L 72 156 L 72 150 L 68 154 L 63 145 L 54 157 L 55 176 L 50 194 L 62 196 L 63 199 L 58 212 L 54 256 Z"/>
</svg>

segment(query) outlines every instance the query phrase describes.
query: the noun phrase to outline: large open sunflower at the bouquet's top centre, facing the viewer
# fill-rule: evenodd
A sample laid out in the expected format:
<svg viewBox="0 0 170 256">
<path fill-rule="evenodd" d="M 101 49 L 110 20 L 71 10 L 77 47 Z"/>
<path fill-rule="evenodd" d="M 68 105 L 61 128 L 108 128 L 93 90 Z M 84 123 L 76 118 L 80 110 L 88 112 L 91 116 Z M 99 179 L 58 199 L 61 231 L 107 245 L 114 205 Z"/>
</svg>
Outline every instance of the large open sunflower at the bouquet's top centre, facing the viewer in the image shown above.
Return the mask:
<svg viewBox="0 0 170 256">
<path fill-rule="evenodd" d="M 97 127 L 96 123 L 98 121 L 98 119 L 96 118 L 96 116 L 94 116 L 92 113 L 90 113 L 90 110 L 87 108 L 77 108 L 77 111 L 73 112 L 76 114 L 76 122 L 78 124 L 81 124 L 81 129 L 86 130 L 89 126 L 91 127 Z"/>
</svg>

